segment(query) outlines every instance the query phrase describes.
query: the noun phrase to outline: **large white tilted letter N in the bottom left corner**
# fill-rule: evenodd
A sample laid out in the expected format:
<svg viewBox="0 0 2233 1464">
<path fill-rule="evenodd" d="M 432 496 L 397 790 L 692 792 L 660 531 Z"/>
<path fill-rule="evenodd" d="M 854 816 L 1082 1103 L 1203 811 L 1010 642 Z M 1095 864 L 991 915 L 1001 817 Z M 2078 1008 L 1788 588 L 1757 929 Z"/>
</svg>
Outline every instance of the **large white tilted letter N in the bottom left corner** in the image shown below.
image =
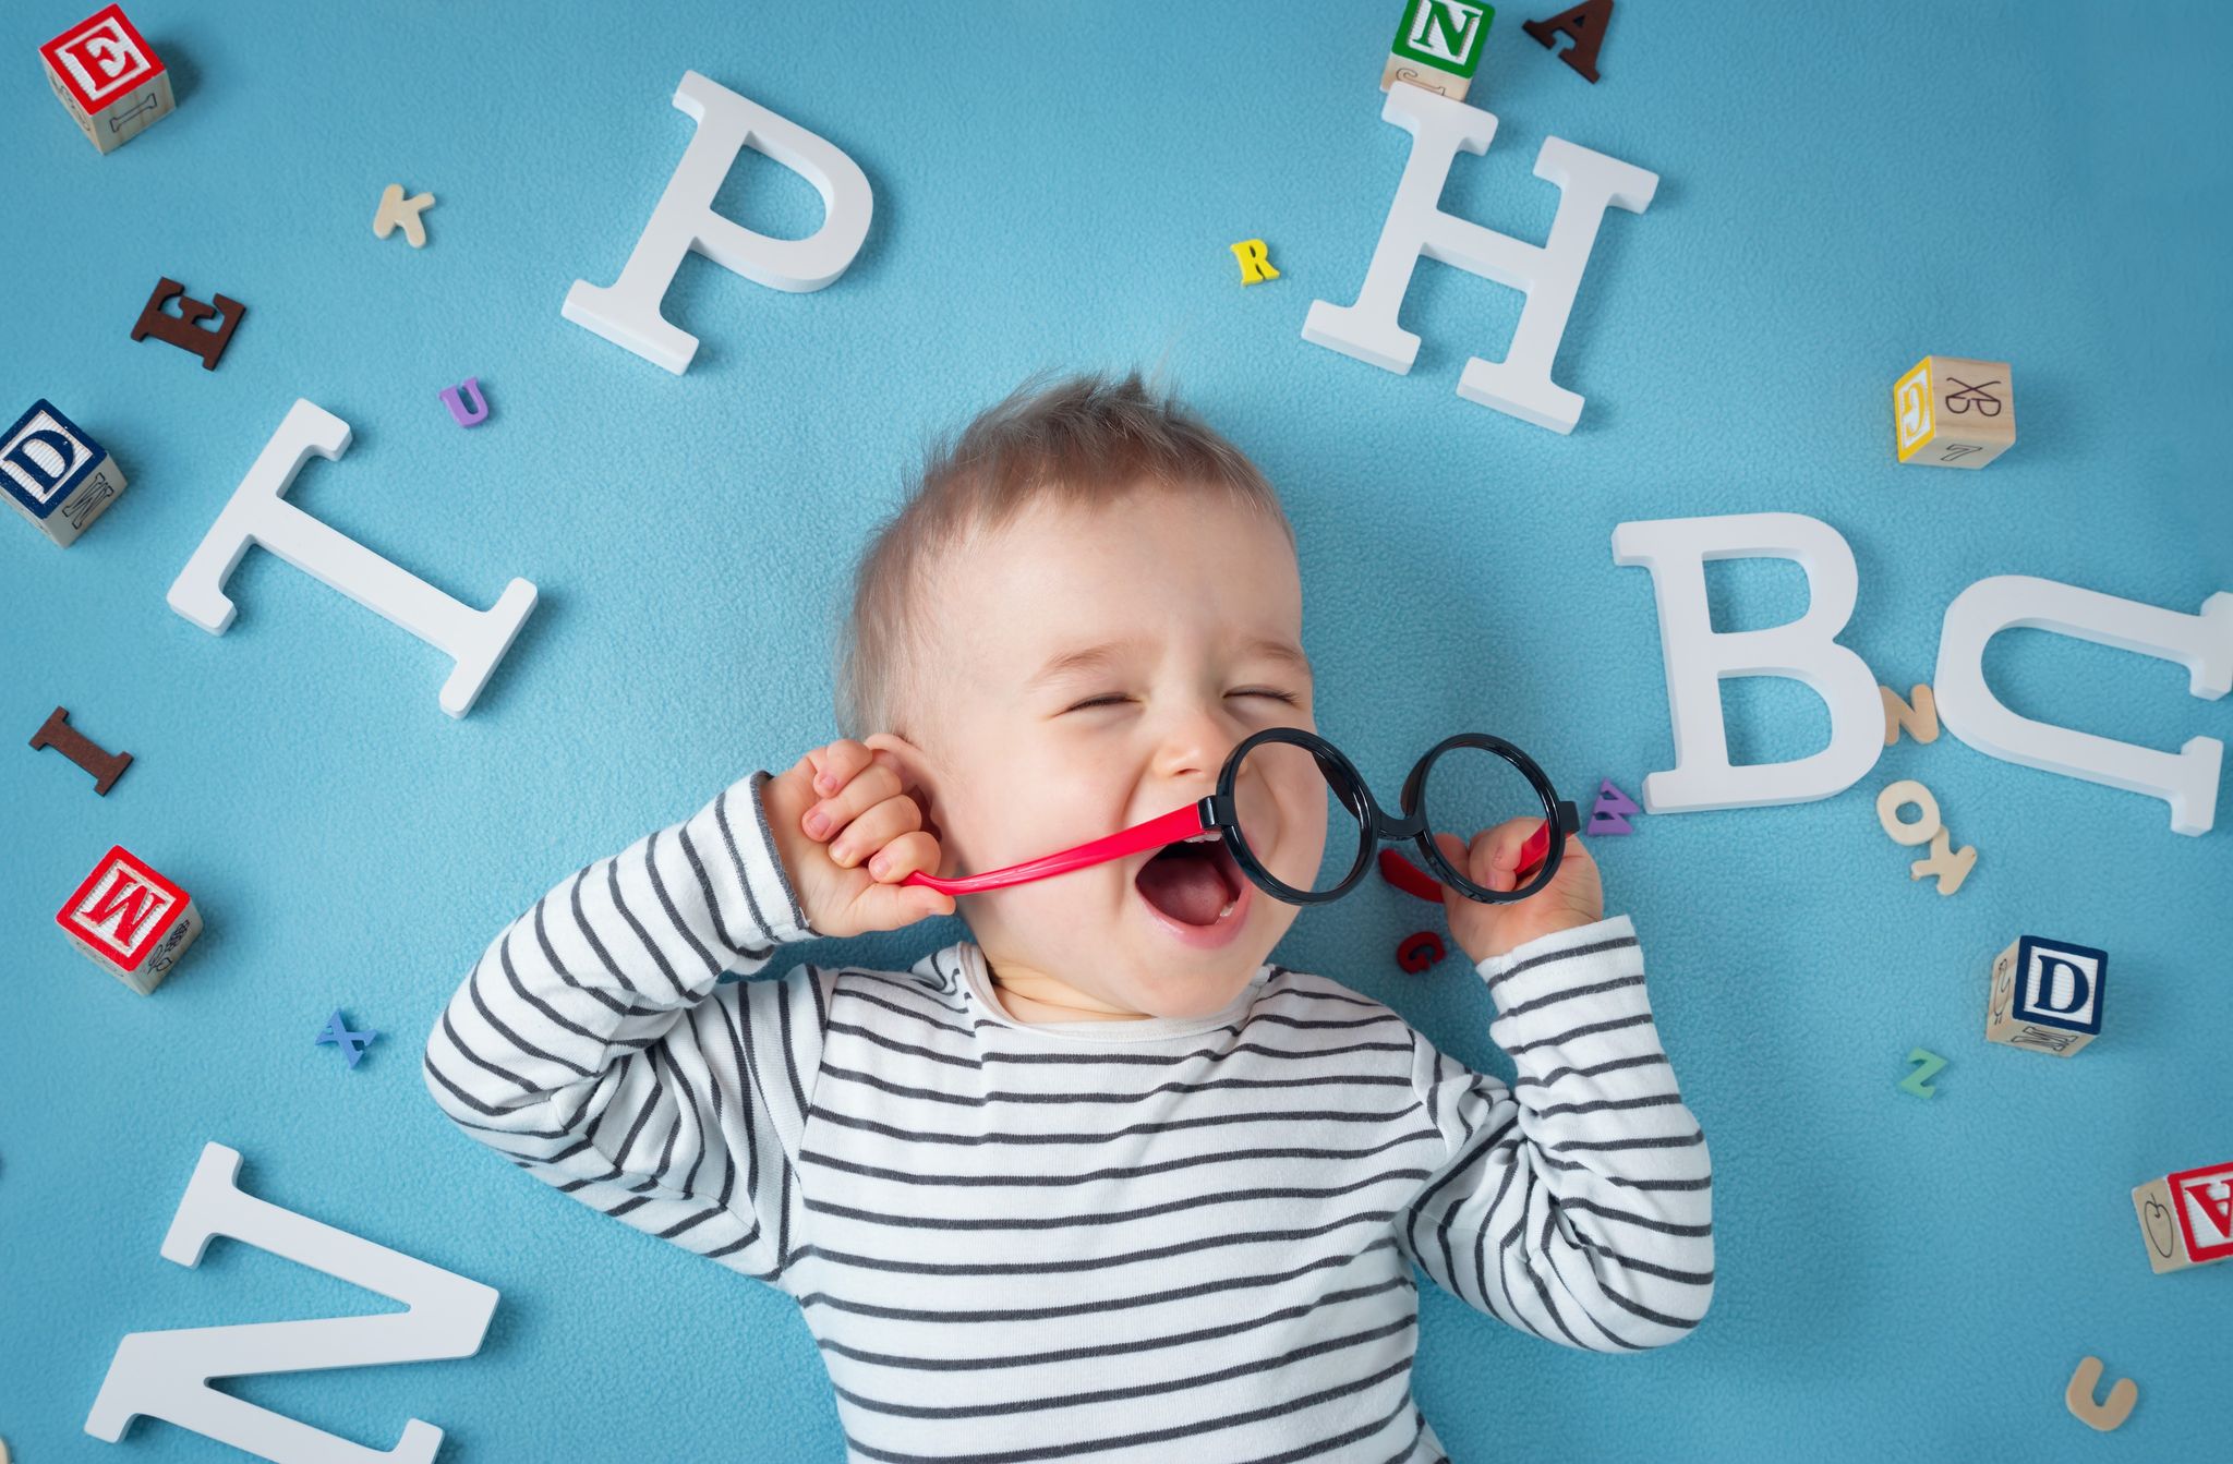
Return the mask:
<svg viewBox="0 0 2233 1464">
<path fill-rule="evenodd" d="M 471 1357 L 496 1312 L 496 1288 L 335 1230 L 234 1185 L 241 1156 L 212 1143 L 163 1236 L 163 1259 L 201 1265 L 210 1236 L 232 1236 L 411 1310 L 382 1317 L 257 1321 L 127 1332 L 116 1343 L 85 1433 L 118 1442 L 134 1417 L 159 1417 L 279 1464 L 431 1464 L 442 1431 L 409 1419 L 395 1448 L 366 1448 L 208 1386 L 212 1377 L 366 1368 Z"/>
</svg>

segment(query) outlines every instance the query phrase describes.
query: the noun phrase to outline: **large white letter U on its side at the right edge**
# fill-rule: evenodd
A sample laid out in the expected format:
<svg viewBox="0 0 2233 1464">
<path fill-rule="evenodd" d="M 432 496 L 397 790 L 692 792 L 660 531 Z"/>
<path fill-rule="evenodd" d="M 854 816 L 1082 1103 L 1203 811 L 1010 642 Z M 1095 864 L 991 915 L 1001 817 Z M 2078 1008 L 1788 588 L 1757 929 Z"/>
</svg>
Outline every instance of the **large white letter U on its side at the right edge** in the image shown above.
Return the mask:
<svg viewBox="0 0 2233 1464">
<path fill-rule="evenodd" d="M 1985 685 L 1985 643 L 2019 625 L 2179 661 L 2188 690 L 2215 701 L 2233 687 L 2233 591 L 2220 589 L 2200 614 L 2188 616 L 2028 574 L 2001 574 L 1978 580 L 1947 605 L 1938 672 L 1932 676 L 1938 721 L 1978 752 L 2146 792 L 2170 803 L 2173 832 L 2208 832 L 2217 817 L 2217 770 L 2226 745 L 2215 736 L 2191 736 L 2177 752 L 2157 752 L 2016 716 Z"/>
</svg>

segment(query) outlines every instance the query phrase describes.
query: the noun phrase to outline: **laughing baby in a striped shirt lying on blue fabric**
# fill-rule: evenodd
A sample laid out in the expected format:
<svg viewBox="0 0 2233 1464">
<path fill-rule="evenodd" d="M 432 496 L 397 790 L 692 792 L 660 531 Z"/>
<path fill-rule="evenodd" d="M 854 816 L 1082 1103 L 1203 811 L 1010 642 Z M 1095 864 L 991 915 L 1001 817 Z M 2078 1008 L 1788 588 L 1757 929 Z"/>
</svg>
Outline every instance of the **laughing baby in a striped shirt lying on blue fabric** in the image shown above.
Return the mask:
<svg viewBox="0 0 2233 1464">
<path fill-rule="evenodd" d="M 563 879 L 424 1071 L 536 1178 L 795 1297 L 853 1460 L 1440 1460 L 1413 1263 L 1574 1348 L 1697 1326 L 1706 1140 L 1579 839 L 1527 899 L 1445 893 L 1510 1087 L 1266 960 L 1302 906 L 1228 857 L 1224 902 L 1148 853 L 904 884 L 1183 808 L 1250 732 L 1315 728 L 1295 536 L 1233 444 L 1137 373 L 1027 382 L 931 453 L 846 629 L 844 736 Z M 1257 794 L 1250 850 L 1315 870 L 1324 788 Z M 1512 890 L 1539 824 L 1436 841 Z M 956 906 L 974 940 L 911 971 L 721 980 Z"/>
</svg>

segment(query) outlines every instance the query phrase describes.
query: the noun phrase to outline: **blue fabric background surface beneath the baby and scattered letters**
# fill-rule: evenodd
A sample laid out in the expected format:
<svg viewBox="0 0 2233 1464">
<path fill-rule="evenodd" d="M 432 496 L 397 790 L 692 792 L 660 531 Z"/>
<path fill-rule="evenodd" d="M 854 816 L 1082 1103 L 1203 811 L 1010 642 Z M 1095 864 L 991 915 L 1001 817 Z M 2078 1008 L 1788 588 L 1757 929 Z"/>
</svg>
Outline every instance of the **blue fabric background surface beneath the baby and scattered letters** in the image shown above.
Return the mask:
<svg viewBox="0 0 2233 1464">
<path fill-rule="evenodd" d="M 922 437 L 1036 366 L 1152 366 L 1264 464 L 1302 540 L 1320 725 L 1376 786 L 1460 728 L 1568 792 L 1670 763 L 1648 576 L 1621 520 L 1789 509 L 1853 547 L 1844 641 L 1925 681 L 1945 605 L 2036 574 L 2193 611 L 2233 587 L 2222 466 L 2233 304 L 2233 13 L 1626 0 L 1601 85 L 1505 9 L 1474 100 L 1498 114 L 1445 208 L 1541 239 L 1550 134 L 1661 176 L 1612 212 L 1559 362 L 1561 437 L 1454 395 L 1521 297 L 1427 263 L 1398 377 L 1300 339 L 1349 304 L 1409 138 L 1376 80 L 1398 4 L 453 4 L 138 0 L 179 112 L 98 156 L 36 47 L 89 0 L 0 18 L 0 408 L 47 395 L 130 475 L 83 542 L 0 524 L 0 730 L 54 703 L 136 754 L 107 799 L 0 752 L 0 1433 L 20 1464 L 123 1457 L 83 1419 L 130 1330 L 386 1310 L 239 1243 L 156 1254 L 205 1140 L 243 1183 L 487 1281 L 462 1361 L 257 1377 L 250 1399 L 366 1444 L 404 1417 L 444 1460 L 840 1457 L 793 1303 L 536 1185 L 449 1127 L 418 1053 L 482 944 L 558 877 L 833 736 L 851 556 Z M 1847 13 L 1829 13 L 1844 9 Z M 683 69 L 869 174 L 875 221 L 828 290 L 690 259 L 688 375 L 567 324 L 610 283 L 690 138 Z M 375 241 L 386 183 L 431 243 Z M 820 223 L 744 154 L 723 208 Z M 1282 279 L 1242 290 L 1262 237 Z M 130 326 L 159 274 L 248 317 L 214 373 Z M 2014 362 L 2021 440 L 1981 473 L 1903 469 L 1891 382 L 1925 353 Z M 478 375 L 491 420 L 435 399 Z M 163 594 L 297 397 L 355 444 L 304 509 L 473 605 L 543 600 L 478 707 L 449 661 L 270 553 L 212 638 Z M 1713 571 L 1722 625 L 1800 609 L 1793 565 Z M 2010 632 L 1987 674 L 2032 716 L 2157 748 L 2233 736 L 2164 661 Z M 1740 757 L 1827 734 L 1800 685 L 1731 683 Z M 1907 879 L 1873 794 L 1920 777 L 1978 866 Z M 2233 1424 L 2233 1265 L 2153 1277 L 2128 1190 L 2233 1158 L 2233 812 L 1905 741 L 1836 799 L 1641 819 L 1601 839 L 1612 908 L 1715 1156 L 1719 1290 L 1695 1337 L 1576 1355 L 1431 1292 L 1418 1393 L 1458 1460 L 2200 1457 Z M 154 998 L 54 911 L 112 841 L 210 928 Z M 1436 922 L 1373 882 L 1277 953 L 1503 1067 L 1463 964 L 1407 977 Z M 1983 1042 L 2019 933 L 2110 951 L 2083 1056 Z M 956 924 L 799 951 L 904 966 Z M 384 1036 L 348 1071 L 328 1011 Z M 1929 1102 L 1905 1053 L 1952 1062 Z M 2081 1355 L 2141 1399 L 2095 1437 Z M 141 1422 L 136 1457 L 230 1460 Z"/>
</svg>

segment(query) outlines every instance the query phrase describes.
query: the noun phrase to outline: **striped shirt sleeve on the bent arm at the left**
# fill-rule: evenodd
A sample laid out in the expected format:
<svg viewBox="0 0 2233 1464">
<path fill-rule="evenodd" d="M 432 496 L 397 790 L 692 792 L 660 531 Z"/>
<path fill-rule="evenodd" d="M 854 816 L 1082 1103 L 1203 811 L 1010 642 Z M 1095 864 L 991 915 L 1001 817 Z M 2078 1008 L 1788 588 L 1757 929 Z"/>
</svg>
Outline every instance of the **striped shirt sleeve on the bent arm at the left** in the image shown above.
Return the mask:
<svg viewBox="0 0 2233 1464">
<path fill-rule="evenodd" d="M 427 1038 L 458 1127 L 543 1183 L 759 1281 L 804 1205 L 799 1134 L 835 975 L 753 975 L 822 935 L 753 772 L 560 879 L 489 942 Z"/>
</svg>

